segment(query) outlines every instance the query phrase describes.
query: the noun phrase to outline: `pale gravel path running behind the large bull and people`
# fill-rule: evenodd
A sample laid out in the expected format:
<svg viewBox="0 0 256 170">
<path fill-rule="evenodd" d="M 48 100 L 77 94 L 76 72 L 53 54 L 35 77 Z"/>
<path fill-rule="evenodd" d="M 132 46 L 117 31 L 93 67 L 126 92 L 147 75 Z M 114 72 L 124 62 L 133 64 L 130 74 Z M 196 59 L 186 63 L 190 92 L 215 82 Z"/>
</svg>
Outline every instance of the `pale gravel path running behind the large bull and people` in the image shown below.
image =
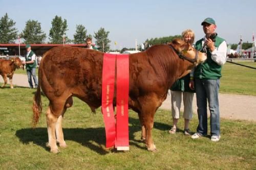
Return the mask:
<svg viewBox="0 0 256 170">
<path fill-rule="evenodd" d="M 0 78 L 0 82 L 4 82 L 2 76 Z M 27 75 L 14 74 L 12 82 L 14 87 L 15 85 L 29 87 Z M 219 98 L 220 116 L 222 118 L 249 120 L 256 122 L 256 96 L 220 93 Z M 163 102 L 160 109 L 171 109 L 170 95 L 167 95 L 167 99 Z M 183 110 L 183 104 L 181 106 L 181 110 Z M 193 111 L 194 113 L 197 113 L 196 95 L 194 96 L 193 100 Z"/>
</svg>

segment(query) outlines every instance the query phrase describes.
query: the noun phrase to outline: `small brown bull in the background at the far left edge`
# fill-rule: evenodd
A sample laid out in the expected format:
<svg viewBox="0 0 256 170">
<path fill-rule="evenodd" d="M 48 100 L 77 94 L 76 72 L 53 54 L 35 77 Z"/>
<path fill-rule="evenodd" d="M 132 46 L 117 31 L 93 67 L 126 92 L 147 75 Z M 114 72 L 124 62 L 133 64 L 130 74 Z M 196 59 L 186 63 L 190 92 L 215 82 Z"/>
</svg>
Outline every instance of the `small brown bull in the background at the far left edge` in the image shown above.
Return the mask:
<svg viewBox="0 0 256 170">
<path fill-rule="evenodd" d="M 7 84 L 7 78 L 9 78 L 10 87 L 13 88 L 12 77 L 13 77 L 14 71 L 18 68 L 24 69 L 22 60 L 20 60 L 18 57 L 12 58 L 10 60 L 0 59 L 0 75 L 4 79 L 4 84 L 2 85 L 2 87 L 5 87 L 5 85 Z"/>
</svg>

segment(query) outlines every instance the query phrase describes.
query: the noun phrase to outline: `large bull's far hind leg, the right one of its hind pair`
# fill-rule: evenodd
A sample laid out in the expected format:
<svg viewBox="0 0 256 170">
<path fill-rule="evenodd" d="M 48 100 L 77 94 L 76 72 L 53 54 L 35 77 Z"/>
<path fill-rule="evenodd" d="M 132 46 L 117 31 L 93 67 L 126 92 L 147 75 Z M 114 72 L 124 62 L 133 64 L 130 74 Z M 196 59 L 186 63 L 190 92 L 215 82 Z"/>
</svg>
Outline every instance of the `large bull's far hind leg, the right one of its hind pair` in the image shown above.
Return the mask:
<svg viewBox="0 0 256 170">
<path fill-rule="evenodd" d="M 64 140 L 64 135 L 62 131 L 62 118 L 64 117 L 64 114 L 67 110 L 67 108 L 71 107 L 73 105 L 73 100 L 72 96 L 68 98 L 66 101 L 66 104 L 64 106 L 64 109 L 62 111 L 62 114 L 58 117 L 57 124 L 56 124 L 56 138 L 57 138 L 57 143 L 59 143 L 59 147 L 66 148 L 67 144 Z"/>
</svg>

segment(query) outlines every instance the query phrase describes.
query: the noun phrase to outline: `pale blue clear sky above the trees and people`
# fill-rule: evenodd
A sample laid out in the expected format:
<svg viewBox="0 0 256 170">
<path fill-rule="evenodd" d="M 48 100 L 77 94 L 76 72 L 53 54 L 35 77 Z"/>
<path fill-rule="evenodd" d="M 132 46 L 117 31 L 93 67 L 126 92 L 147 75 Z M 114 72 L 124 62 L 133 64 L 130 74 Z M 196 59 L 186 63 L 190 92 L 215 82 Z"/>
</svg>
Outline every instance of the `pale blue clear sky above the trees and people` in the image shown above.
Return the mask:
<svg viewBox="0 0 256 170">
<path fill-rule="evenodd" d="M 67 36 L 73 39 L 76 25 L 83 25 L 94 35 L 99 28 L 109 31 L 111 48 L 135 47 L 147 38 L 178 35 L 192 29 L 196 40 L 204 36 L 201 22 L 206 17 L 216 21 L 219 36 L 227 43 L 238 43 L 240 35 L 244 42 L 252 41 L 256 34 L 256 1 L 3 1 L 0 0 L 0 17 L 8 13 L 16 22 L 19 33 L 29 19 L 41 23 L 42 30 L 49 35 L 51 21 L 55 15 L 67 19 Z"/>
</svg>

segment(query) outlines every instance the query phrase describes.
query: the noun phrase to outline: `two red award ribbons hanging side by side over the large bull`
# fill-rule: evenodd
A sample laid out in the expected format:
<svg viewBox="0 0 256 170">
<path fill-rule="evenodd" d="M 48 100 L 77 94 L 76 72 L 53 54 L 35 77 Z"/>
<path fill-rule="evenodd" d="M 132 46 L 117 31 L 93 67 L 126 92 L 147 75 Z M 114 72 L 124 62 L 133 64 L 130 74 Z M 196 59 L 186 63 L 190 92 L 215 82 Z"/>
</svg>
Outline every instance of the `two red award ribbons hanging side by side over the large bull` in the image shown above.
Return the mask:
<svg viewBox="0 0 256 170">
<path fill-rule="evenodd" d="M 117 56 L 117 57 L 116 57 Z M 117 58 L 117 117 L 113 110 L 115 61 Z M 102 69 L 102 113 L 106 148 L 129 150 L 129 55 L 104 54 Z"/>
</svg>

